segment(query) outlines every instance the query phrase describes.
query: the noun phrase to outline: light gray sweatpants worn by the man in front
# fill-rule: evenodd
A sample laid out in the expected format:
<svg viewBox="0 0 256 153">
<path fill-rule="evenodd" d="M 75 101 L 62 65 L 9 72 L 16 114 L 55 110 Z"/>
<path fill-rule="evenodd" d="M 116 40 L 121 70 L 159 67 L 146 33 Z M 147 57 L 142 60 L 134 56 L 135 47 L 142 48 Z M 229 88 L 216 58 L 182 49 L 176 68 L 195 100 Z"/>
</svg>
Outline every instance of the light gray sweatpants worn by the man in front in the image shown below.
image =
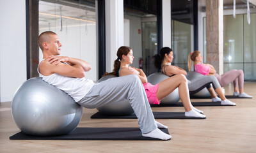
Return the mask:
<svg viewBox="0 0 256 153">
<path fill-rule="evenodd" d="M 124 99 L 129 99 L 129 103 L 138 117 L 141 133 L 149 133 L 157 128 L 146 92 L 140 78 L 136 75 L 109 78 L 98 82 L 77 103 L 85 108 L 97 108 Z"/>
</svg>

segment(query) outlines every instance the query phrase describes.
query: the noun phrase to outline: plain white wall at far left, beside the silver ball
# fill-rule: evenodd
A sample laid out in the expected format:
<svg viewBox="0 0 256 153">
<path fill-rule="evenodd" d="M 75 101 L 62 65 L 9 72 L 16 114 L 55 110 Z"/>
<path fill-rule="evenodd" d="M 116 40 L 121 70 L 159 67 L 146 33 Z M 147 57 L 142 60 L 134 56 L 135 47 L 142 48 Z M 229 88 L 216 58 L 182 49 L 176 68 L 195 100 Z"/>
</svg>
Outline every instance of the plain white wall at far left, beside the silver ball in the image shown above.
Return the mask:
<svg viewBox="0 0 256 153">
<path fill-rule="evenodd" d="M 26 1 L 0 1 L 0 101 L 26 81 Z"/>
</svg>

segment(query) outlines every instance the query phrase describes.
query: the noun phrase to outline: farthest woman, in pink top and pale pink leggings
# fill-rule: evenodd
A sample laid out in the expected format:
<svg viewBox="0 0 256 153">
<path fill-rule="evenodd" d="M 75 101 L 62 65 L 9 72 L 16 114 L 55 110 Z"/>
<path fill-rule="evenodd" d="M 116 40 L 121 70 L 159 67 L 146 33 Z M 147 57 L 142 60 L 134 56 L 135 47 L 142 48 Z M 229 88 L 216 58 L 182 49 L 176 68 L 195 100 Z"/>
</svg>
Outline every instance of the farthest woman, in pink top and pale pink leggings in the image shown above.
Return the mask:
<svg viewBox="0 0 256 153">
<path fill-rule="evenodd" d="M 238 70 L 232 69 L 220 76 L 218 73 L 216 73 L 216 70 L 211 64 L 201 63 L 203 57 L 198 50 L 190 54 L 189 57 L 190 57 L 188 58 L 189 69 L 191 69 L 191 61 L 193 61 L 196 72 L 202 73 L 203 75 L 214 75 L 220 82 L 221 87 L 225 87 L 226 85 L 233 82 L 234 96 L 252 98 L 252 96 L 244 92 L 244 73 L 241 69 L 238 69 Z M 237 84 L 239 86 L 239 89 Z"/>
</svg>

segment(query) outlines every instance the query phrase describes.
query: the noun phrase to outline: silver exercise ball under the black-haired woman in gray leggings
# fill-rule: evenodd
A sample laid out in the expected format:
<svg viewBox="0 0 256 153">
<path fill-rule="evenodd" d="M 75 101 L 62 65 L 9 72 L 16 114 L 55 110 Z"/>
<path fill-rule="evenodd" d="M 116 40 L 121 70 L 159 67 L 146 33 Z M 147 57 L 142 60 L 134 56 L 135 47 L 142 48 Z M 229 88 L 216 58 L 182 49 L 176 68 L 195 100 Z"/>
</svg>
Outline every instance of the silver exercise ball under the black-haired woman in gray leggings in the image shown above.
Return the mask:
<svg viewBox="0 0 256 153">
<path fill-rule="evenodd" d="M 152 73 L 147 78 L 148 78 L 148 82 L 150 82 L 150 84 L 156 85 L 159 82 L 162 82 L 163 80 L 170 78 L 170 77 L 168 77 L 167 75 L 164 75 L 163 73 L 156 72 L 156 73 Z M 162 99 L 160 104 L 161 105 L 174 105 L 174 104 L 178 103 L 179 100 L 180 100 L 179 88 L 177 88 L 171 94 L 166 96 L 166 98 Z"/>
</svg>

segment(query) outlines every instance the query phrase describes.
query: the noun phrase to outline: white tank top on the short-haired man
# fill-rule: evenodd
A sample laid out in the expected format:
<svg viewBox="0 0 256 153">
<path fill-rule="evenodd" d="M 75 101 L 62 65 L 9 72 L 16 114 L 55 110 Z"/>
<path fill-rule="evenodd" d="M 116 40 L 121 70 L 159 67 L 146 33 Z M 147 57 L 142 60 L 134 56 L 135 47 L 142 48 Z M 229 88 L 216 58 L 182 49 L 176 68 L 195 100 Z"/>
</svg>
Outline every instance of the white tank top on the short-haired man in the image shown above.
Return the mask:
<svg viewBox="0 0 256 153">
<path fill-rule="evenodd" d="M 42 77 L 45 82 L 48 82 L 49 84 L 54 85 L 55 87 L 58 87 L 58 89 L 66 92 L 76 102 L 84 98 L 84 96 L 90 91 L 90 89 L 92 89 L 93 85 L 95 84 L 92 80 L 87 78 L 73 78 L 58 75 L 56 73 L 53 73 L 49 76 L 44 76 L 39 71 L 39 65 L 40 63 L 37 67 L 39 77 Z"/>
</svg>

